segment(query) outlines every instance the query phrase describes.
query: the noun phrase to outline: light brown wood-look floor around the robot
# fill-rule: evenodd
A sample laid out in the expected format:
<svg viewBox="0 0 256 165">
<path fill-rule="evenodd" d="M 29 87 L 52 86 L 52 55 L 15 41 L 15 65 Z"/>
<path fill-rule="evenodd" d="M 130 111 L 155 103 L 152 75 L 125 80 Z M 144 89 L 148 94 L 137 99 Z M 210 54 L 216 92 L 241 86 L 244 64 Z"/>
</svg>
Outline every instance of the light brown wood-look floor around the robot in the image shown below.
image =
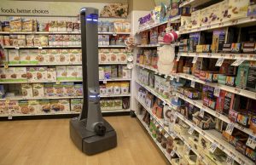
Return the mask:
<svg viewBox="0 0 256 165">
<path fill-rule="evenodd" d="M 0 122 L 0 164 L 167 164 L 136 118 L 106 119 L 117 131 L 118 147 L 96 156 L 85 156 L 73 145 L 68 119 Z"/>
</svg>

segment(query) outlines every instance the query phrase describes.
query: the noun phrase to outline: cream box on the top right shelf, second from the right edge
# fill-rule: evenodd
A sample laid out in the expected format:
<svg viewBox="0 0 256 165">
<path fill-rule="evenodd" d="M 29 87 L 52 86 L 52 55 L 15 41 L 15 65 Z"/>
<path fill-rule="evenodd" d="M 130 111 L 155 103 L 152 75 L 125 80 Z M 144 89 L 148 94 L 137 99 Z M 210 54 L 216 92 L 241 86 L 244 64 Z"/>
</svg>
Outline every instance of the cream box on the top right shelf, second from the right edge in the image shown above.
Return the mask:
<svg viewBox="0 0 256 165">
<path fill-rule="evenodd" d="M 230 19 L 240 19 L 247 16 L 249 0 L 229 0 Z"/>
</svg>

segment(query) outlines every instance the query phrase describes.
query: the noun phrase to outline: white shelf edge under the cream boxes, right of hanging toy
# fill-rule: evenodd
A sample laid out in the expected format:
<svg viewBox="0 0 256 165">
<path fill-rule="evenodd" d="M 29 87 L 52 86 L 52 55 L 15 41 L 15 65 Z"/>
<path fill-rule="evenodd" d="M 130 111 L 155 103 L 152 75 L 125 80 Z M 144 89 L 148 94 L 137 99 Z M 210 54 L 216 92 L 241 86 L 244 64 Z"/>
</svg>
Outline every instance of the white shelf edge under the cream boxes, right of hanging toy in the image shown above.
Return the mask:
<svg viewBox="0 0 256 165">
<path fill-rule="evenodd" d="M 198 0 L 199 2 L 199 0 Z M 190 32 L 196 32 L 196 31 L 207 31 L 207 30 L 212 30 L 212 29 L 217 29 L 220 27 L 227 27 L 227 26 L 237 26 L 241 24 L 249 24 L 252 22 L 256 21 L 256 15 L 252 17 L 246 17 L 246 18 L 241 18 L 237 20 L 227 20 L 222 23 L 217 23 L 217 24 L 212 24 L 211 26 L 201 26 L 198 28 L 192 28 L 192 29 L 185 29 L 183 31 L 179 31 L 179 34 L 187 34 Z"/>
</svg>

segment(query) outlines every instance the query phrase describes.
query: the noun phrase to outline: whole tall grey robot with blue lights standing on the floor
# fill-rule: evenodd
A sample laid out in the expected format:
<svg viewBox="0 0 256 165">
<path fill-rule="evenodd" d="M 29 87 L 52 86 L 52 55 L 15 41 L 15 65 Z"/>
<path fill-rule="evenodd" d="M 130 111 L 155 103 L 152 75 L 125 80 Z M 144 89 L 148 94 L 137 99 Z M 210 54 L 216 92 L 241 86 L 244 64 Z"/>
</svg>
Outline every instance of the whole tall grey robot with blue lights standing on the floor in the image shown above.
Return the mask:
<svg viewBox="0 0 256 165">
<path fill-rule="evenodd" d="M 98 10 L 80 11 L 84 105 L 79 117 L 70 120 L 70 137 L 87 155 L 107 151 L 117 145 L 112 126 L 102 118 L 98 71 Z"/>
</svg>

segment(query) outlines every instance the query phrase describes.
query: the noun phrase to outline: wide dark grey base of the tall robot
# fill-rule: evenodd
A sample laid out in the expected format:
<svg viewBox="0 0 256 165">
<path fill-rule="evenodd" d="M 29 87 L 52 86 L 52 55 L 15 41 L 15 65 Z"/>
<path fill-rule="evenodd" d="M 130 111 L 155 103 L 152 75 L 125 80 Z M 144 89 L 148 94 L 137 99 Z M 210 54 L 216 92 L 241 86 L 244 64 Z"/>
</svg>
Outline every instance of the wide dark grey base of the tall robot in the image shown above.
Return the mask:
<svg viewBox="0 0 256 165">
<path fill-rule="evenodd" d="M 103 119 L 104 120 L 104 119 Z M 86 119 L 79 121 L 79 117 L 72 118 L 69 122 L 69 132 L 73 143 L 86 155 L 110 150 L 117 146 L 116 132 L 112 126 L 104 120 L 106 134 L 98 136 L 86 129 Z"/>
</svg>

